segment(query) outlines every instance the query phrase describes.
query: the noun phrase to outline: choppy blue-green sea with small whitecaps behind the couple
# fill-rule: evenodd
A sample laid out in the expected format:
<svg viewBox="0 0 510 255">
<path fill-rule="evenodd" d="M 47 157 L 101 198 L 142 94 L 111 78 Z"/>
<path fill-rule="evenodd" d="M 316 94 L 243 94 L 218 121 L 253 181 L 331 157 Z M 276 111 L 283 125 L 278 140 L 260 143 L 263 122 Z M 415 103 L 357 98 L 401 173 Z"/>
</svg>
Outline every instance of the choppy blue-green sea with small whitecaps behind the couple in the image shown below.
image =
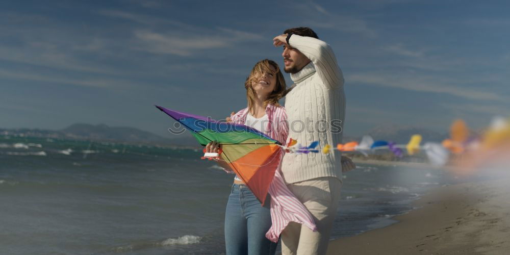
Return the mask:
<svg viewBox="0 0 510 255">
<path fill-rule="evenodd" d="M 234 176 L 199 148 L 0 136 L 0 253 L 223 254 Z M 423 166 L 344 173 L 331 238 L 396 221 L 460 182 Z"/>
</svg>

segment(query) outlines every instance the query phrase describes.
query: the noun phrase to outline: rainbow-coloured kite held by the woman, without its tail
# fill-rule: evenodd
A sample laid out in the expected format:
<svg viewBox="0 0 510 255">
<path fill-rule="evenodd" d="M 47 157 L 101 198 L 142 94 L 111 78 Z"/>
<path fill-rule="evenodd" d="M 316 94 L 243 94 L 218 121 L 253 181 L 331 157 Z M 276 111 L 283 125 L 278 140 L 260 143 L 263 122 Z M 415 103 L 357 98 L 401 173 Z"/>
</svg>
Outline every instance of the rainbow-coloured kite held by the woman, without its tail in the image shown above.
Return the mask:
<svg viewBox="0 0 510 255">
<path fill-rule="evenodd" d="M 278 141 L 249 126 L 156 107 L 183 124 L 202 146 L 219 142 L 218 164 L 234 171 L 264 205 L 283 152 Z"/>
</svg>

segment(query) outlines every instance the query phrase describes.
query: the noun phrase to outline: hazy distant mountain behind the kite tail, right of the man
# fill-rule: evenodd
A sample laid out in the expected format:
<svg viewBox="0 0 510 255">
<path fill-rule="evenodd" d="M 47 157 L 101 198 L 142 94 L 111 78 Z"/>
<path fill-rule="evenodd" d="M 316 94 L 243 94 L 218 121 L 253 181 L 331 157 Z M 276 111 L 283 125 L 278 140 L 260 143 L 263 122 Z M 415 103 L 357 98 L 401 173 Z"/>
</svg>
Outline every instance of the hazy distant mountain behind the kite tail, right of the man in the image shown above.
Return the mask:
<svg viewBox="0 0 510 255">
<path fill-rule="evenodd" d="M 380 125 L 371 129 L 368 135 L 372 136 L 374 140 L 387 140 L 396 143 L 407 143 L 412 135 L 419 134 L 422 136 L 422 141 L 425 142 L 441 142 L 448 135 L 415 126 L 402 126 L 402 125 Z"/>
</svg>

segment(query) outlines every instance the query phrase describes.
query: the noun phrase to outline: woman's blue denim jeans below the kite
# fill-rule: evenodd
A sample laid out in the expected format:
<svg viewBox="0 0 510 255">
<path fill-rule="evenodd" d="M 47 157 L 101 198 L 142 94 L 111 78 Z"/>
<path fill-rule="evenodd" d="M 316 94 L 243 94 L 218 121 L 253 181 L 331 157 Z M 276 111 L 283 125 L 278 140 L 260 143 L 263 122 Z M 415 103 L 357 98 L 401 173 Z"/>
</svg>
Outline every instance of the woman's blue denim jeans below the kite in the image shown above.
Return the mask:
<svg viewBox="0 0 510 255">
<path fill-rule="evenodd" d="M 266 238 L 271 227 L 270 202 L 268 194 L 262 207 L 246 185 L 232 185 L 225 212 L 227 255 L 274 254 L 277 244 Z"/>
</svg>

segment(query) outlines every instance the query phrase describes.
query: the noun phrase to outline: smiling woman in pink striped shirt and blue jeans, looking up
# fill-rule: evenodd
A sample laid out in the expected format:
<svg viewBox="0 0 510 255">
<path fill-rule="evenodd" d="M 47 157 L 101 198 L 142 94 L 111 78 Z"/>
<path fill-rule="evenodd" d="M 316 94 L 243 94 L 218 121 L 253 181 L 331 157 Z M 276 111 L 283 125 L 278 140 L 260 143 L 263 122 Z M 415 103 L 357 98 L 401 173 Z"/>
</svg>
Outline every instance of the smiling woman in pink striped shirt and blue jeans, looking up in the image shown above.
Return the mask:
<svg viewBox="0 0 510 255">
<path fill-rule="evenodd" d="M 250 126 L 285 144 L 287 114 L 278 100 L 285 95 L 286 85 L 278 65 L 267 59 L 259 61 L 244 87 L 248 107 L 232 116 L 232 122 Z M 218 144 L 209 143 L 206 152 L 218 152 Z M 279 234 L 290 221 L 315 229 L 312 216 L 288 190 L 279 169 L 264 207 L 236 176 L 225 211 L 226 254 L 274 254 Z"/>
</svg>

